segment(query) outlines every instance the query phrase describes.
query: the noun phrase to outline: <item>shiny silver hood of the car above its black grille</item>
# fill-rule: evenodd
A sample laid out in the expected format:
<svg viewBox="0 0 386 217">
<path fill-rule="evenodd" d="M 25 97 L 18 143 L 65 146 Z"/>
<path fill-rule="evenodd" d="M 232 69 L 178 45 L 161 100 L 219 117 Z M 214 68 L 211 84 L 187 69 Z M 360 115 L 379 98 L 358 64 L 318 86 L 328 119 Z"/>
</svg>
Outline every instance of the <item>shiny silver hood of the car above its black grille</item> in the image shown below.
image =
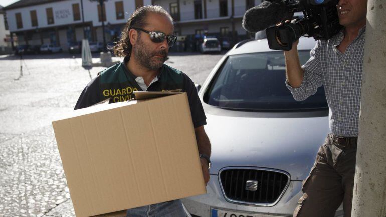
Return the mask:
<svg viewBox="0 0 386 217">
<path fill-rule="evenodd" d="M 248 117 L 206 112 L 205 130 L 211 141 L 211 174 L 225 167 L 283 170 L 292 180 L 307 177 L 327 134 L 328 117 Z M 241 114 L 241 115 L 240 115 Z M 306 115 L 307 116 L 307 115 Z"/>
</svg>

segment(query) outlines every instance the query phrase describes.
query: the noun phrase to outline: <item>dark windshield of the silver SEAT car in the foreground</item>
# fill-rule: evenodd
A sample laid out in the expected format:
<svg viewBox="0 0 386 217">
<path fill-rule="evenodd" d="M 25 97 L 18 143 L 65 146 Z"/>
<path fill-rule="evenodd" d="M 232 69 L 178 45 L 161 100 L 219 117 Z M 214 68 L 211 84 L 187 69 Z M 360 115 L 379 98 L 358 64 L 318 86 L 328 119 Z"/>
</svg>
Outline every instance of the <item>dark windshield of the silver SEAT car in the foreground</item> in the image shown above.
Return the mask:
<svg viewBox="0 0 386 217">
<path fill-rule="evenodd" d="M 309 50 L 299 51 L 300 63 Z M 328 107 L 323 87 L 304 101 L 295 101 L 285 85 L 282 51 L 232 55 L 217 72 L 204 102 L 222 108 L 242 110 L 303 110 Z"/>
</svg>

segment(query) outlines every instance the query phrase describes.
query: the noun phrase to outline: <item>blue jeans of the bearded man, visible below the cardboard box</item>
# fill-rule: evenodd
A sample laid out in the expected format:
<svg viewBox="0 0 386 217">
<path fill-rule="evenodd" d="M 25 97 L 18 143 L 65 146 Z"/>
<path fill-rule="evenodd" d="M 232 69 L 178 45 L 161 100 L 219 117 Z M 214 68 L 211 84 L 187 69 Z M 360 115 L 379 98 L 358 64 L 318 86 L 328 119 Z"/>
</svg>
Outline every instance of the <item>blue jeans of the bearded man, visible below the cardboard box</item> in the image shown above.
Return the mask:
<svg viewBox="0 0 386 217">
<path fill-rule="evenodd" d="M 128 209 L 126 217 L 185 217 L 181 200 L 172 200 L 153 205 Z"/>
</svg>

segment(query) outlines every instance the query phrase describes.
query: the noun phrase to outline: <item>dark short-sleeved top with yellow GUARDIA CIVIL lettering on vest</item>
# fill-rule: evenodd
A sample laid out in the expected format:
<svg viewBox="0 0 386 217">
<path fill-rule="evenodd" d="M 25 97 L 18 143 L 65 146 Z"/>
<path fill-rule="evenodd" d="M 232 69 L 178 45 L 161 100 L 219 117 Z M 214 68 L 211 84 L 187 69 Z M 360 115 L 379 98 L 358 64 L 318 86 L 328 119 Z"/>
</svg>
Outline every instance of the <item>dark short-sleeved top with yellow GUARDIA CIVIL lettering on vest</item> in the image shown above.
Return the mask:
<svg viewBox="0 0 386 217">
<path fill-rule="evenodd" d="M 123 63 L 103 70 L 83 89 L 74 109 L 92 106 L 110 98 L 110 103 L 134 98 L 133 91 L 142 91 L 133 75 Z M 186 92 L 189 100 L 191 118 L 195 128 L 206 125 L 206 116 L 194 83 L 183 72 L 163 64 L 158 81 L 152 83 L 147 91 L 180 90 Z"/>
</svg>

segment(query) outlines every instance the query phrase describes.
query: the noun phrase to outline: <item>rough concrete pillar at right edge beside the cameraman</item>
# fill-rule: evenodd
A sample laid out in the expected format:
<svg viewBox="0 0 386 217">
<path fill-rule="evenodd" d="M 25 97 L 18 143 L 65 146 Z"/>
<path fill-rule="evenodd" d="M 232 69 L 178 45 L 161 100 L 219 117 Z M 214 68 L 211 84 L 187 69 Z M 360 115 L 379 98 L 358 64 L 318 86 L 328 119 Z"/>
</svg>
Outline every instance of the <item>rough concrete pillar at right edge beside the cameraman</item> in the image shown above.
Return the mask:
<svg viewBox="0 0 386 217">
<path fill-rule="evenodd" d="M 352 217 L 386 216 L 386 1 L 368 0 Z"/>
</svg>

